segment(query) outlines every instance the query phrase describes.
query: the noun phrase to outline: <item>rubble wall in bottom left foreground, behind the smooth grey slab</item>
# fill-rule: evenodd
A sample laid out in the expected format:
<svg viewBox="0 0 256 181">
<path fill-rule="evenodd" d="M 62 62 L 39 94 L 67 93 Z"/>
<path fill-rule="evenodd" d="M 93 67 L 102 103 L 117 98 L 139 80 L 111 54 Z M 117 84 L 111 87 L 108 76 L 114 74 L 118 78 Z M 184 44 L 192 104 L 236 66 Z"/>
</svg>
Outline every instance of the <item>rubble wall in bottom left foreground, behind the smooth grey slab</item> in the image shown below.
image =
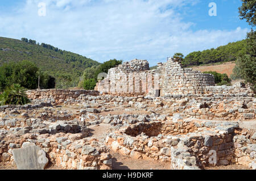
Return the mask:
<svg viewBox="0 0 256 181">
<path fill-rule="evenodd" d="M 72 170 L 110 170 L 112 157 L 109 149 L 97 140 L 86 140 L 81 134 L 32 135 L 25 134 L 22 138 L 0 142 L 0 162 L 15 165 L 13 149 L 22 145 L 40 146 L 53 166 Z"/>
</svg>

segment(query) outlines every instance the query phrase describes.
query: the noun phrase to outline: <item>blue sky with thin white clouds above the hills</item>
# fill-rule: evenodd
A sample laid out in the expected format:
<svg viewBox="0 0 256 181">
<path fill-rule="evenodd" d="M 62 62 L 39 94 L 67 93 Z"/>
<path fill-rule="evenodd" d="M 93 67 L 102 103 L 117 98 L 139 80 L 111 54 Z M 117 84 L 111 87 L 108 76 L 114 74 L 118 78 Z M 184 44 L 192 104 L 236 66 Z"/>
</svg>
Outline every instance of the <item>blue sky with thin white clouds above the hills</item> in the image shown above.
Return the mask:
<svg viewBox="0 0 256 181">
<path fill-rule="evenodd" d="M 46 3 L 46 16 L 38 3 Z M 209 16 L 210 2 L 217 16 Z M 240 0 L 1 0 L 0 36 L 27 37 L 93 60 L 165 62 L 245 39 Z"/>
</svg>

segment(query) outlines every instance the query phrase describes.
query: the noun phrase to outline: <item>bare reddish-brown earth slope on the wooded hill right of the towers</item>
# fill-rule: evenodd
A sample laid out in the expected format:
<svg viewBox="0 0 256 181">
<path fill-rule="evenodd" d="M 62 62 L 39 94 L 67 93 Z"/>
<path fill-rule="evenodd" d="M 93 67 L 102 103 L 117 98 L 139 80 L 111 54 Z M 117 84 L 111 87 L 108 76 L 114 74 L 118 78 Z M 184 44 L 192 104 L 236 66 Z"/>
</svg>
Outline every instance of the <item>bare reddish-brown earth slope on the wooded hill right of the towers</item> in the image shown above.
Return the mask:
<svg viewBox="0 0 256 181">
<path fill-rule="evenodd" d="M 234 62 L 226 62 L 226 63 L 220 64 L 220 65 L 195 66 L 192 68 L 193 68 L 193 70 L 200 70 L 201 72 L 217 71 L 218 73 L 221 73 L 221 74 L 226 73 L 230 77 L 235 65 L 236 64 Z"/>
</svg>

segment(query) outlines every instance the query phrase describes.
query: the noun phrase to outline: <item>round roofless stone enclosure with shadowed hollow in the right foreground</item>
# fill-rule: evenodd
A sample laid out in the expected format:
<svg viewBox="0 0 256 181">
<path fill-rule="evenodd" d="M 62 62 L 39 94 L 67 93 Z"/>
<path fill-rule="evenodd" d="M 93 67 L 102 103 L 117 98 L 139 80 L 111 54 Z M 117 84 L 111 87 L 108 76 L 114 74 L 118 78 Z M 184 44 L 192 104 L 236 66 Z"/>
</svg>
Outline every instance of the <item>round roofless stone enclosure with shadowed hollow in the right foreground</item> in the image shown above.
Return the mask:
<svg viewBox="0 0 256 181">
<path fill-rule="evenodd" d="M 247 150 L 246 158 L 237 156 L 235 129 L 237 123 L 224 121 L 137 123 L 110 132 L 105 144 L 134 159 L 171 162 L 172 169 L 204 169 L 240 163 L 241 159 L 246 159 L 245 166 L 250 167 L 255 162 L 256 144 L 251 142 L 250 148 L 254 149 Z"/>
</svg>

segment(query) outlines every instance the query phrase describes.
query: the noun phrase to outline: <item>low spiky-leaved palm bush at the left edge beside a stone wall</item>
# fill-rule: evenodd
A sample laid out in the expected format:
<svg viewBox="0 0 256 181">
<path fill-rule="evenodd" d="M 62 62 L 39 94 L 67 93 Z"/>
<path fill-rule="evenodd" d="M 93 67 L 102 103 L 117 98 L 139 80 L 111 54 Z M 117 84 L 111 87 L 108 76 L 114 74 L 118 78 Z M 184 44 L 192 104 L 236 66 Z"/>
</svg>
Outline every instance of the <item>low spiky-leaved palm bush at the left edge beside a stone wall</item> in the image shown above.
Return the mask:
<svg viewBox="0 0 256 181">
<path fill-rule="evenodd" d="M 24 105 L 29 103 L 30 100 L 27 98 L 25 91 L 26 89 L 17 83 L 7 87 L 3 94 L 0 95 L 0 105 Z"/>
</svg>

